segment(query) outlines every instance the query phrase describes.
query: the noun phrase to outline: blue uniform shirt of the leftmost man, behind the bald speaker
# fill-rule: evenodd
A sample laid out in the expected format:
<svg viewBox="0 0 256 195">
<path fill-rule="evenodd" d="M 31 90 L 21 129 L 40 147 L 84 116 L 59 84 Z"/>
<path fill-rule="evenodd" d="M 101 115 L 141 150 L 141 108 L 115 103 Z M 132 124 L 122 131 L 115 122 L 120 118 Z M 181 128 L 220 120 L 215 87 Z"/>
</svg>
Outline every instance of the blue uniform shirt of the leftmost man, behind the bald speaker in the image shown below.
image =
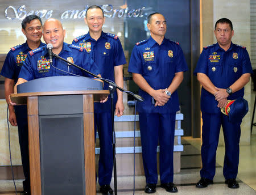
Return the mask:
<svg viewBox="0 0 256 195">
<path fill-rule="evenodd" d="M 40 43 L 40 46 L 44 45 L 46 44 L 42 42 Z M 5 63 L 3 63 L 1 75 L 3 77 L 13 79 L 16 83 L 19 78 L 20 69 L 23 66 L 23 63 L 27 57 L 27 53 L 30 50 L 31 49 L 28 47 L 27 41 L 22 45 L 17 45 L 11 48 L 11 50 L 9 51 L 5 58 Z"/>
</svg>

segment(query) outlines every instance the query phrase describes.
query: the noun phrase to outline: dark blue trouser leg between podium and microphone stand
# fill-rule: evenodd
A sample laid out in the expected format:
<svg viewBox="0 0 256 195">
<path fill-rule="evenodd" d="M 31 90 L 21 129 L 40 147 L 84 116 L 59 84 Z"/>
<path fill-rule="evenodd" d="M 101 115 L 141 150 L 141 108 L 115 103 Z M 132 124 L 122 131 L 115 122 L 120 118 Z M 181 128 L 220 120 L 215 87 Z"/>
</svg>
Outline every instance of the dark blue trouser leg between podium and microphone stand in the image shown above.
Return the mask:
<svg viewBox="0 0 256 195">
<path fill-rule="evenodd" d="M 111 113 L 94 113 L 94 133 L 100 139 L 100 158 L 98 160 L 98 183 L 109 185 L 113 171 L 112 118 Z M 96 175 L 97 180 L 97 175 Z"/>
</svg>

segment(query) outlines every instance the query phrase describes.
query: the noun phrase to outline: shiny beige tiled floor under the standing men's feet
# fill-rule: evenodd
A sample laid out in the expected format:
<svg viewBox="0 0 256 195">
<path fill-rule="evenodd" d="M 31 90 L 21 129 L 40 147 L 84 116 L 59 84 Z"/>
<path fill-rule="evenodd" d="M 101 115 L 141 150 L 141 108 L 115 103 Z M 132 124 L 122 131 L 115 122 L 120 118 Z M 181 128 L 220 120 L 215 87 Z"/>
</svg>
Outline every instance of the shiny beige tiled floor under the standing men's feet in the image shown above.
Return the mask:
<svg viewBox="0 0 256 195">
<path fill-rule="evenodd" d="M 208 188 L 198 189 L 195 184 L 200 179 L 199 171 L 201 166 L 200 157 L 200 139 L 192 139 L 191 137 L 182 138 L 184 145 L 184 152 L 181 154 L 181 172 L 175 173 L 174 183 L 177 185 L 179 194 L 210 194 L 210 195 L 222 195 L 222 194 L 256 194 L 256 135 L 251 138 L 250 146 L 240 147 L 240 166 L 237 180 L 240 184 L 238 189 L 229 189 L 224 184 L 224 177 L 222 175 L 222 166 L 224 159 L 225 147 L 219 146 L 217 150 L 217 163 L 216 163 L 216 176 L 214 177 L 214 184 L 209 185 Z M 22 181 L 17 182 L 18 190 L 22 189 Z M 113 186 L 113 183 L 111 184 Z M 118 177 L 118 194 L 133 194 L 133 177 Z M 144 176 L 135 177 L 135 194 L 144 193 L 145 179 Z M 170 194 L 164 189 L 156 188 L 154 194 Z M 97 192 L 99 186 L 97 186 Z M 9 192 L 8 192 L 9 191 Z M 13 182 L 5 183 L 0 182 L 0 194 L 14 195 Z M 100 195 L 101 193 L 97 193 Z M 76 194 L 75 194 L 76 195 Z M 78 194 L 79 195 L 79 194 Z"/>
</svg>

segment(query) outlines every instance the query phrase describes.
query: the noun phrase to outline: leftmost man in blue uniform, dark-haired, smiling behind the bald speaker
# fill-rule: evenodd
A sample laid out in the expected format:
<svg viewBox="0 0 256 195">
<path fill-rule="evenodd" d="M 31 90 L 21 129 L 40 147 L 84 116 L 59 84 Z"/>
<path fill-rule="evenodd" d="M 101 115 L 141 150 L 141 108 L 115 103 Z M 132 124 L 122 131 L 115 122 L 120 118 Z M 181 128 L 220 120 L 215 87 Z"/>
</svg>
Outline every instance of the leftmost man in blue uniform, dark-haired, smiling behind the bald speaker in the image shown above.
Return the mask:
<svg viewBox="0 0 256 195">
<path fill-rule="evenodd" d="M 5 77 L 5 97 L 7 104 L 9 104 L 8 96 L 14 92 L 14 85 L 18 80 L 19 71 L 26 60 L 27 53 L 32 49 L 45 45 L 40 40 L 43 31 L 42 26 L 42 20 L 36 15 L 30 15 L 24 18 L 22 21 L 22 32 L 26 36 L 27 41 L 22 45 L 14 46 L 7 54 L 1 71 L 1 75 Z M 9 105 L 9 112 L 11 125 L 18 125 L 20 153 L 25 176 L 25 180 L 23 181 L 24 191 L 21 194 L 30 194 L 27 106 L 19 105 L 13 107 L 13 105 Z"/>
</svg>

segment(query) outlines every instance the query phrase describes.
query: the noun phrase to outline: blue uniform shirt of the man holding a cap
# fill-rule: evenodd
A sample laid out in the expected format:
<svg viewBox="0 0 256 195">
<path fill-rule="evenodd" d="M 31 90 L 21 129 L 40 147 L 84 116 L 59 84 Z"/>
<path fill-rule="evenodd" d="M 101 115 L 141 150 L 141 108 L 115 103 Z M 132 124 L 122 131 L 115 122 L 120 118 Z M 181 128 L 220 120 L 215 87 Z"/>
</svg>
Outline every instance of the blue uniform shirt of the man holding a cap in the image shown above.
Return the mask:
<svg viewBox="0 0 256 195">
<path fill-rule="evenodd" d="M 225 52 L 218 43 L 207 46 L 203 49 L 197 62 L 196 73 L 206 74 L 214 86 L 228 88 L 242 74 L 252 73 L 249 54 L 244 46 L 231 43 L 230 48 Z M 244 88 L 228 96 L 228 99 L 243 97 Z M 201 111 L 205 113 L 220 113 L 217 107 L 218 101 L 202 87 L 201 90 Z"/>
</svg>

